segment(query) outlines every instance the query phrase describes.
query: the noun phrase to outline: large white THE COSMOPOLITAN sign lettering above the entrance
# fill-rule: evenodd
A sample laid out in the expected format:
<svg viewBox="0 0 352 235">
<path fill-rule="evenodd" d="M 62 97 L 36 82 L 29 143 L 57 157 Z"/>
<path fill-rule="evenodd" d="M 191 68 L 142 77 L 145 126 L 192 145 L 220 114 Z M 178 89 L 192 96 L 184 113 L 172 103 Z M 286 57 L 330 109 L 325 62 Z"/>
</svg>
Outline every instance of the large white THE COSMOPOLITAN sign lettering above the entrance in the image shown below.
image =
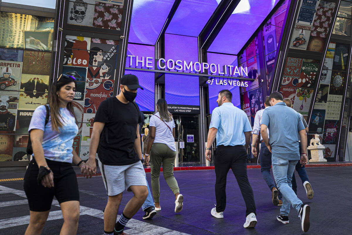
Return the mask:
<svg viewBox="0 0 352 235">
<path fill-rule="evenodd" d="M 147 68 L 147 69 L 153 69 L 154 68 L 154 58 L 153 57 L 138 57 L 134 55 L 127 55 L 129 57 L 130 63 L 128 63 L 127 60 L 127 67 L 132 67 L 136 66 L 139 67 L 141 66 L 142 68 Z M 128 58 L 127 58 L 128 59 Z M 247 77 L 248 76 L 248 71 L 247 67 L 238 67 L 238 66 L 233 66 L 233 65 L 223 65 L 220 67 L 220 64 L 214 64 L 214 63 L 206 63 L 206 62 L 187 62 L 187 61 L 182 61 L 182 60 L 172 60 L 168 59 L 166 60 L 165 58 L 160 58 L 156 62 L 156 66 L 158 69 L 167 69 L 167 70 L 176 70 L 177 72 L 195 72 L 195 73 L 209 73 L 210 74 L 219 74 L 219 75 L 224 75 L 224 76 L 234 76 L 234 77 Z M 222 68 L 222 70 L 220 69 Z M 222 71 L 222 72 L 221 72 Z"/>
</svg>

